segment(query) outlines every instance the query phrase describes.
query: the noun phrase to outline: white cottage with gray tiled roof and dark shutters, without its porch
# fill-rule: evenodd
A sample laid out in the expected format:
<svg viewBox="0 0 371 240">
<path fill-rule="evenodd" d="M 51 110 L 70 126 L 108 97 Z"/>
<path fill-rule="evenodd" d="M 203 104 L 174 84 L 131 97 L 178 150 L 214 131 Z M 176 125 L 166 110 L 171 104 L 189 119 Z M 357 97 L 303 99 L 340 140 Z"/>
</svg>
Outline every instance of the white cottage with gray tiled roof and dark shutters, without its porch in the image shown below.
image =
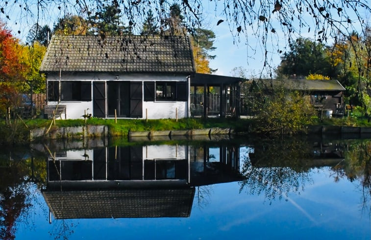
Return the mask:
<svg viewBox="0 0 371 240">
<path fill-rule="evenodd" d="M 40 67 L 66 118 L 185 118 L 195 74 L 188 36 L 54 35 Z"/>
</svg>

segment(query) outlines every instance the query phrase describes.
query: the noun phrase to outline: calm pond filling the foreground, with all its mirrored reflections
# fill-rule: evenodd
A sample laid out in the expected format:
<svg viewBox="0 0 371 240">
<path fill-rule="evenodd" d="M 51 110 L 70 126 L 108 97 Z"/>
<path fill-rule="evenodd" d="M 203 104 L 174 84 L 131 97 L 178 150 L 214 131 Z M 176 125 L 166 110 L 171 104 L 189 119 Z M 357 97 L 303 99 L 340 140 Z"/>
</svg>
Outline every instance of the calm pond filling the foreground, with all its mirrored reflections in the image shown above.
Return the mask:
<svg viewBox="0 0 371 240">
<path fill-rule="evenodd" d="M 371 139 L 140 140 L 2 149 L 0 239 L 371 238 Z"/>
</svg>

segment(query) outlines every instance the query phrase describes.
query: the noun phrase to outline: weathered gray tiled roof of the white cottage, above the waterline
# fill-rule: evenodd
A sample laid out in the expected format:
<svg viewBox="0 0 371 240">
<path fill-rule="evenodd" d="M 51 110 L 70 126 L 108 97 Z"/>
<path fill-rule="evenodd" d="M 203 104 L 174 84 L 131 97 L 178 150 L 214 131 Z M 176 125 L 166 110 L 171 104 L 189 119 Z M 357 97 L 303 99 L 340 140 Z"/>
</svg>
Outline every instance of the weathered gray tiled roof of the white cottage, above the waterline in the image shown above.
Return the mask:
<svg viewBox="0 0 371 240">
<path fill-rule="evenodd" d="M 41 72 L 194 73 L 188 36 L 53 35 Z"/>
</svg>

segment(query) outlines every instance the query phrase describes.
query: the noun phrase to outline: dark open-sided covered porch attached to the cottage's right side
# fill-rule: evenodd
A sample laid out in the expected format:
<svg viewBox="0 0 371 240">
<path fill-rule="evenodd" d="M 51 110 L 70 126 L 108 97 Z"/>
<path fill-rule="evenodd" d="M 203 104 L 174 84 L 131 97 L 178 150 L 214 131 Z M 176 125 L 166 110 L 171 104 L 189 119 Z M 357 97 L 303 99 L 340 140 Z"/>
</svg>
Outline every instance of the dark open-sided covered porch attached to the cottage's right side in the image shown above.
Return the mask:
<svg viewBox="0 0 371 240">
<path fill-rule="evenodd" d="M 191 117 L 239 117 L 240 82 L 244 79 L 195 74 L 190 82 Z"/>
</svg>

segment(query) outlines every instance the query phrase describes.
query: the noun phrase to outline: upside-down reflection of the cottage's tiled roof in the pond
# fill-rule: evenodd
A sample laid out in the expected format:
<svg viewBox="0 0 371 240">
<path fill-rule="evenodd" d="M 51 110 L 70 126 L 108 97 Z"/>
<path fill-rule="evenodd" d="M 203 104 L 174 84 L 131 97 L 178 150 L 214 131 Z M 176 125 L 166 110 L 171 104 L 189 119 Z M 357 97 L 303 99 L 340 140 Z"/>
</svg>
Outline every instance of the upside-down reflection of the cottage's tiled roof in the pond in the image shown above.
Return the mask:
<svg viewBox="0 0 371 240">
<path fill-rule="evenodd" d="M 195 188 L 44 190 L 43 195 L 55 219 L 189 217 Z"/>
</svg>

